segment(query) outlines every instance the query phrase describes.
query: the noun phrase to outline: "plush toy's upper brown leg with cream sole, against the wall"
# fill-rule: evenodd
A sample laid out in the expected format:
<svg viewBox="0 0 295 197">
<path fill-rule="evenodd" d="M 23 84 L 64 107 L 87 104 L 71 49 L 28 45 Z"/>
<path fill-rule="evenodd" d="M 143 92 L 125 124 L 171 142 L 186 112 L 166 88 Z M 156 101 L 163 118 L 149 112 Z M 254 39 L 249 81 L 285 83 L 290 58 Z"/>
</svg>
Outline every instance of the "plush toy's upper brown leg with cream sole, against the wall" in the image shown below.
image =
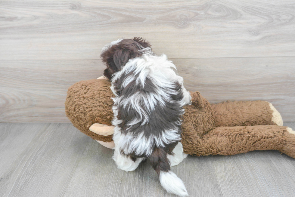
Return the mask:
<svg viewBox="0 0 295 197">
<path fill-rule="evenodd" d="M 211 106 L 215 115 L 216 127 L 243 125 L 283 126 L 281 114 L 267 101 L 227 101 L 211 104 Z"/>
</svg>

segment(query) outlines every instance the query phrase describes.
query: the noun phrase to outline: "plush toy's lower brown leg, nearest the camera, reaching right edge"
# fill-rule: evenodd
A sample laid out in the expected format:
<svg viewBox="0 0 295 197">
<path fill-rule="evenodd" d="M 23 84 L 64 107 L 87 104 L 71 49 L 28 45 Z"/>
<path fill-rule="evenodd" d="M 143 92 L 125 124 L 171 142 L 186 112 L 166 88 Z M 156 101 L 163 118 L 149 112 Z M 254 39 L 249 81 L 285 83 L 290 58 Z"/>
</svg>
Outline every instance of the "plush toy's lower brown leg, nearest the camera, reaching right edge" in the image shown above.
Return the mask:
<svg viewBox="0 0 295 197">
<path fill-rule="evenodd" d="M 183 135 L 190 155 L 235 155 L 252 150 L 279 150 L 295 158 L 295 131 L 276 125 L 217 127 L 203 137 Z"/>
</svg>

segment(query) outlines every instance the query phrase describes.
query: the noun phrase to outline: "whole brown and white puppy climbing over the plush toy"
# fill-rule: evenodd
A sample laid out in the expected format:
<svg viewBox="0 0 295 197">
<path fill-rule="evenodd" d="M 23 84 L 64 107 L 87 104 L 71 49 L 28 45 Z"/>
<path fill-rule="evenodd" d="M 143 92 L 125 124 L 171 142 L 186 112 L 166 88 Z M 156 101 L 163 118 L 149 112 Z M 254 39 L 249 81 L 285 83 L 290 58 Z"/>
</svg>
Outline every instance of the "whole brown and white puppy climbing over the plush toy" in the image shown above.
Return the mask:
<svg viewBox="0 0 295 197">
<path fill-rule="evenodd" d="M 142 38 L 119 39 L 102 49 L 104 76 L 112 82 L 115 98 L 113 159 L 118 168 L 135 170 L 147 159 L 168 192 L 187 196 L 185 185 L 171 170 L 183 153 L 183 106 L 191 95 L 166 55 L 157 56 Z"/>
</svg>

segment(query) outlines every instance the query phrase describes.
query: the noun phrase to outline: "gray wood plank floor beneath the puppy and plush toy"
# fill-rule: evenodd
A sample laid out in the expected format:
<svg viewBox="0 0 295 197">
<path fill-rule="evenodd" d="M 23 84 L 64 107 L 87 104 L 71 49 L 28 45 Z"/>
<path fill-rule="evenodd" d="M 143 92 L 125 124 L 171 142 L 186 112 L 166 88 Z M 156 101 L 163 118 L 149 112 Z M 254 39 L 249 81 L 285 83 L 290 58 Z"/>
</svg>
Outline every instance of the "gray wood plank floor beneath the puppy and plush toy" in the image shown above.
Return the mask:
<svg viewBox="0 0 295 197">
<path fill-rule="evenodd" d="M 0 150 L 0 196 L 175 196 L 147 163 L 117 169 L 111 149 L 69 123 L 1 123 Z M 190 196 L 210 197 L 295 196 L 294 169 L 295 159 L 272 150 L 188 156 L 172 167 Z"/>
</svg>

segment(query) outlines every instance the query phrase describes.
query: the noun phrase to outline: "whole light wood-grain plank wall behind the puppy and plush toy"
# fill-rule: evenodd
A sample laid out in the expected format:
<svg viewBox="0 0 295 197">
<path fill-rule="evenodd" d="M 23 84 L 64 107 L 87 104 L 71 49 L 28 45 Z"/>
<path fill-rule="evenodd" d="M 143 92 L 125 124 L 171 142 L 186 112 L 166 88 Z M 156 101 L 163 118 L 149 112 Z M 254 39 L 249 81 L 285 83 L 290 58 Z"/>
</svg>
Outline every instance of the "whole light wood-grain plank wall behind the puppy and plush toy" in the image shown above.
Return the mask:
<svg viewBox="0 0 295 197">
<path fill-rule="evenodd" d="M 6 1 L 0 13 L 0 122 L 69 122 L 67 88 L 133 36 L 210 102 L 267 100 L 295 121 L 294 1 Z"/>
</svg>

